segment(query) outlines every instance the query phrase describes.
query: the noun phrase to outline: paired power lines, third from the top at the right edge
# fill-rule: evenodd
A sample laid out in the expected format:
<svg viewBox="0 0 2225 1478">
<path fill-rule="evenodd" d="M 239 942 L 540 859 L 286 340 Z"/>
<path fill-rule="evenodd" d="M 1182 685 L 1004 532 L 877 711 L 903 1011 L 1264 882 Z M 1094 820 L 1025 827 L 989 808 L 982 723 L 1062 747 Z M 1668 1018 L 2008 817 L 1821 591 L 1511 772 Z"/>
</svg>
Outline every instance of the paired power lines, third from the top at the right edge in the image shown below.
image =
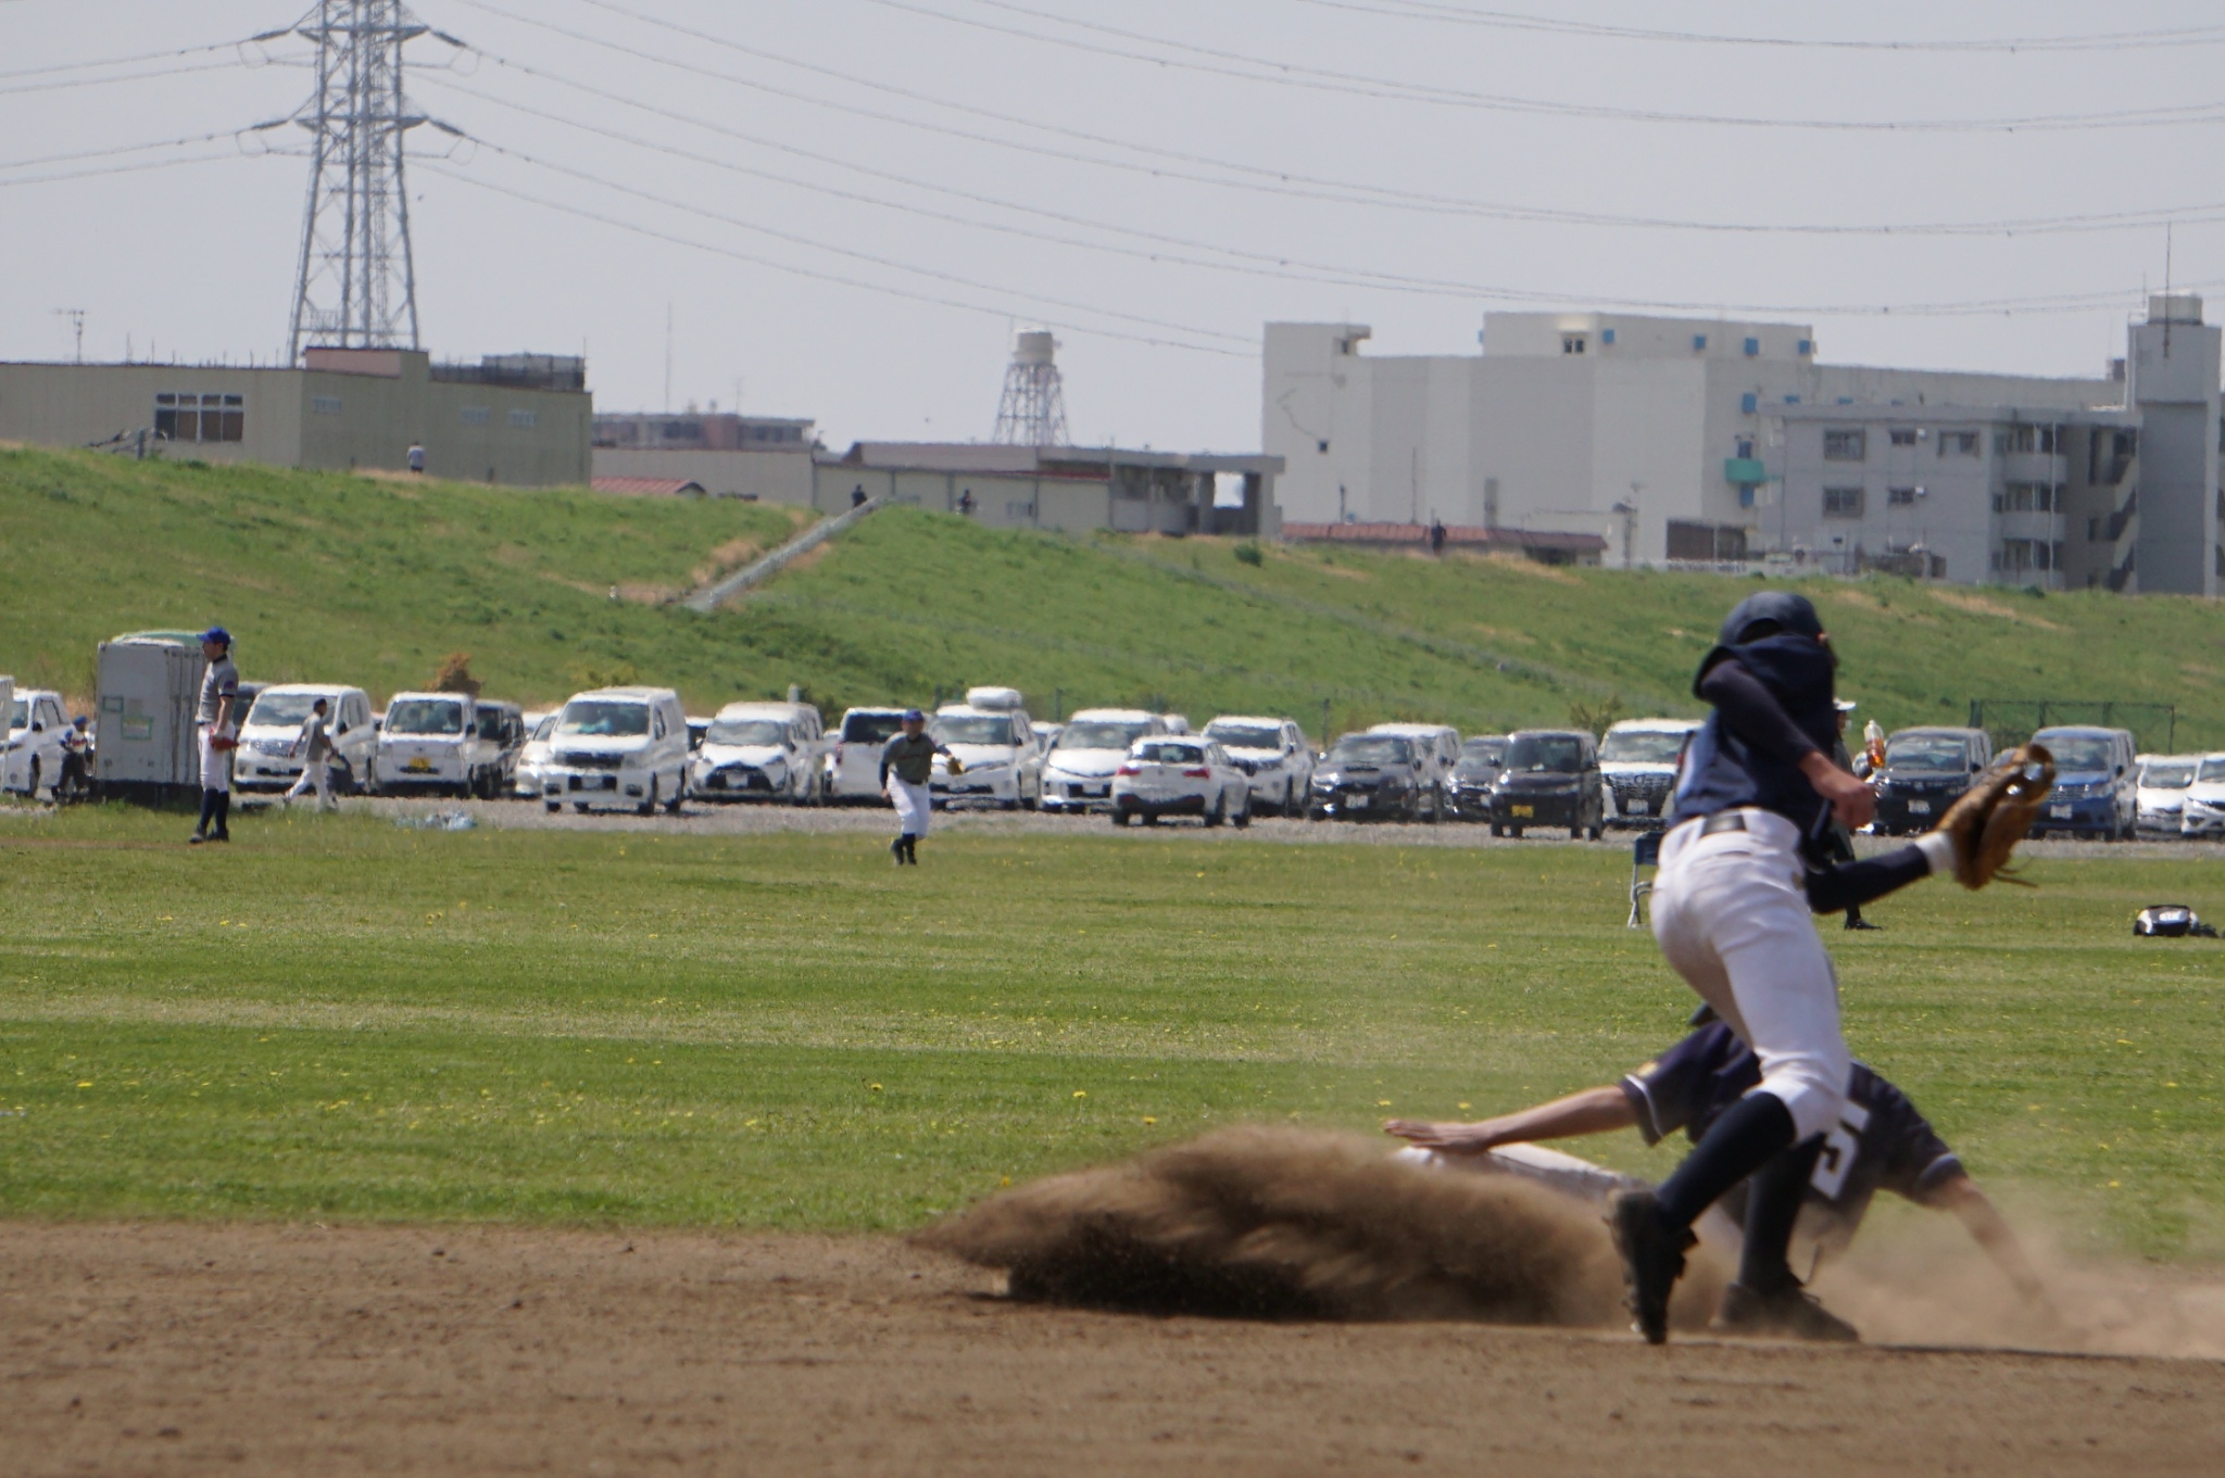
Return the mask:
<svg viewBox="0 0 2225 1478">
<path fill-rule="evenodd" d="M 583 4 L 590 4 L 590 7 L 601 9 L 601 11 L 610 11 L 612 16 L 623 16 L 627 20 L 639 20 L 643 24 L 654 24 L 654 27 L 661 27 L 665 31 L 672 31 L 674 36 L 685 36 L 685 38 L 701 40 L 701 42 L 708 42 L 708 44 L 714 44 L 714 47 L 723 47 L 723 49 L 734 51 L 739 56 L 750 56 L 750 58 L 756 58 L 756 60 L 763 60 L 763 62 L 772 62 L 772 64 L 779 64 L 779 67 L 792 67 L 797 71 L 808 71 L 812 76 L 823 76 L 823 78 L 828 78 L 832 82 L 839 82 L 843 87 L 854 87 L 854 89 L 868 89 L 868 91 L 877 91 L 877 93 L 888 93 L 888 96 L 894 96 L 894 98 L 903 98 L 908 102 L 919 102 L 919 104 L 926 104 L 926 107 L 934 107 L 934 109 L 943 109 L 943 111 L 952 111 L 952 113 L 963 113 L 963 116 L 970 116 L 970 118 L 983 118 L 983 120 L 990 120 L 990 122 L 1001 122 L 1001 124 L 1010 124 L 1010 127 L 1017 127 L 1017 129 L 1028 129 L 1032 133 L 1048 133 L 1048 136 L 1055 136 L 1055 138 L 1070 138 L 1070 140 L 1077 140 L 1077 142 L 1104 147 L 1104 149 L 1121 149 L 1121 151 L 1128 151 L 1128 153 L 1146 156 L 1146 158 L 1173 160 L 1175 164 L 1195 164 L 1199 169 L 1219 169 L 1219 171 L 1228 171 L 1228 173 L 1235 173 L 1235 176 L 1244 176 L 1244 178 L 1226 180 L 1226 178 L 1217 178 L 1217 176 L 1210 176 L 1210 173 L 1195 173 L 1193 169 L 1168 169 L 1166 164 L 1141 164 L 1141 162 L 1133 162 L 1133 160 L 1108 160 L 1108 158 L 1097 158 L 1097 156 L 1090 156 L 1090 153 L 1077 153 L 1077 151 L 1070 151 L 1070 149 L 1055 149 L 1055 147 L 1046 147 L 1046 144 L 1032 144 L 1032 142 L 1010 140 L 1010 138 L 997 138 L 992 133 L 977 133 L 972 129 L 957 129 L 957 127 L 950 127 L 950 124 L 928 122 L 928 120 L 919 120 L 919 118 L 903 118 L 901 113 L 886 113 L 886 111 L 879 111 L 879 109 L 859 107 L 854 102 L 832 102 L 832 100 L 814 98 L 810 93 L 801 93 L 801 91 L 794 91 L 794 89 L 788 89 L 788 87 L 777 87 L 772 82 L 761 82 L 756 78 L 743 78 L 743 76 L 736 76 L 736 73 L 730 73 L 730 71 L 716 71 L 716 69 L 703 67 L 699 62 L 685 62 L 685 60 L 679 60 L 679 58 L 672 58 L 672 56 L 661 56 L 661 53 L 654 53 L 654 51 L 643 51 L 643 49 L 636 49 L 636 47 L 627 47 L 625 42 L 614 42 L 614 40 L 605 40 L 605 38 L 590 36 L 590 33 L 583 33 L 583 31 L 572 31 L 567 27 L 561 27 L 561 24 L 534 18 L 534 16 L 518 16 L 518 13 L 512 13 L 512 11 L 503 11 L 503 9 L 494 7 L 494 4 L 485 4 L 483 0 L 461 0 L 461 2 L 463 4 L 472 4 L 474 9 L 483 9 L 483 11 L 492 13 L 492 16 L 501 16 L 503 20 L 514 20 L 514 22 L 521 22 L 521 24 L 530 24 L 530 27 L 550 31 L 554 36 L 565 36 L 570 40 L 576 40 L 576 42 L 583 42 L 583 44 L 590 44 L 590 47 L 601 47 L 601 49 L 607 49 L 607 51 L 616 51 L 621 56 L 639 58 L 643 62 L 652 62 L 652 64 L 659 64 L 659 67 L 670 67 L 670 69 L 676 69 L 676 71 L 688 71 L 688 73 L 694 73 L 694 76 L 701 76 L 701 78 L 712 78 L 712 80 L 719 80 L 719 82 L 730 82 L 734 87 L 745 87 L 750 91 L 759 91 L 759 93 L 765 93 L 765 96 L 772 96 L 772 98 L 785 98 L 790 102 L 803 102 L 805 107 L 817 107 L 817 109 L 825 109 L 825 111 L 832 111 L 832 113 L 843 113 L 843 116 L 850 116 L 850 118 L 868 118 L 868 120 L 874 120 L 874 122 L 888 122 L 888 124 L 903 127 L 903 129 L 917 129 L 921 133 L 934 133 L 934 136 L 941 136 L 941 138 L 957 138 L 957 140 L 966 140 L 966 142 L 988 144 L 988 147 L 995 147 L 995 149 L 1008 149 L 1008 151 L 1015 151 L 1015 153 L 1030 153 L 1030 156 L 1037 156 L 1037 158 L 1050 158 L 1050 160 L 1059 160 L 1059 162 L 1066 162 L 1066 164 L 1090 164 L 1095 169 L 1110 169 L 1110 171 L 1117 171 L 1117 173 L 1141 176 L 1141 178 L 1153 178 L 1153 180 L 1181 180 L 1181 182 L 1190 182 L 1190 184 L 1206 184 L 1206 187 L 1213 187 L 1213 189 L 1242 189 L 1242 191 L 1250 191 L 1250 193 L 1259 193 L 1259 196 L 1273 196 L 1273 198 L 1284 198 L 1284 200 L 1311 200 L 1311 202 L 1324 202 L 1324 204 L 1359 204 L 1359 207 L 1368 207 L 1368 209 L 1400 209 L 1400 211 L 1424 213 L 1424 216 L 1468 216 L 1468 218 L 1477 218 L 1477 220 L 1515 220 L 1515 222 L 1531 222 L 1531 224 L 1575 224 L 1575 227 L 1660 229 L 1660 231 L 1709 231 L 1709 233 L 1736 233 L 1736 236 L 2018 236 L 2018 233 L 2054 233 L 2054 231 L 2112 231 L 2112 229 L 2134 229 L 2134 227 L 2165 224 L 2165 222 L 2172 222 L 2172 220 L 2176 220 L 2180 224 L 2192 224 L 2187 220 L 2189 213 L 2198 213 L 2198 211 L 2225 211 L 2225 202 L 2207 202 L 2207 204 L 2196 204 L 2196 207 L 2156 209 L 2156 211 L 2123 211 L 2123 213 L 2089 213 L 2089 216 L 2043 216 L 2043 218 L 2009 218 L 2009 220 L 1976 220 L 1976 222 L 1887 222 L 1887 224 L 1873 224 L 1871 227 L 1871 224 L 1829 224 L 1829 222 L 1682 220 L 1682 218 L 1662 218 L 1662 216 L 1618 216 L 1618 213 L 1606 213 L 1606 211 L 1569 211 L 1569 209 L 1553 209 L 1553 207 L 1506 204 L 1506 202 L 1495 202 L 1495 200 L 1475 200 L 1475 198 L 1462 198 L 1462 196 L 1442 196 L 1442 193 L 1431 193 L 1431 191 L 1406 191 L 1406 189 L 1395 189 L 1395 187 L 1386 187 L 1386 184 L 1368 184 L 1368 182 L 1359 182 L 1359 180 L 1337 180 L 1337 178 L 1328 178 L 1328 176 L 1308 176 L 1308 173 L 1302 173 L 1302 171 L 1270 169 L 1270 167 L 1262 167 L 1262 164 L 1244 164 L 1244 162 L 1237 162 L 1237 160 L 1219 160 L 1219 158 L 1213 158 L 1213 156 L 1188 153 L 1188 151 L 1181 151 L 1181 149 L 1164 149 L 1164 147 L 1155 147 L 1155 144 L 1139 144 L 1139 142 L 1133 142 L 1133 140 L 1108 138 L 1108 136 L 1101 136 L 1101 133 L 1088 133 L 1084 129 L 1068 129 L 1068 127 L 1055 124 L 1055 122 L 1041 122 L 1041 120 L 1021 118 L 1021 116 L 1015 116 L 1015 113 L 999 113 L 995 109 L 986 109 L 986 107 L 979 107 L 979 104 L 950 102 L 946 98 L 934 98 L 932 93 L 921 93 L 921 91 L 914 91 L 914 89 L 908 89 L 908 87 L 897 87 L 897 84 L 890 84 L 890 82 L 877 82 L 877 80 L 866 78 L 866 76 L 857 76 L 857 73 L 848 73 L 848 71 L 837 71 L 832 67 L 823 67 L 819 62 L 803 62 L 803 60 L 797 60 L 797 58 L 790 58 L 790 56 L 781 56 L 777 51 L 765 51 L 763 47 L 750 47 L 745 42 L 736 42 L 736 40 L 730 40 L 730 38 L 723 38 L 723 36 L 714 36 L 710 31 L 699 31 L 694 27 L 683 27 L 679 22 L 670 22 L 670 20 L 659 18 L 659 16 L 647 16 L 647 13 L 641 13 L 641 11 L 630 11 L 630 9 L 621 7 L 621 4 L 612 4 L 610 0 L 581 0 Z M 481 51 L 481 56 L 487 56 L 487 60 L 492 60 L 496 64 L 514 67 L 518 71 L 532 71 L 530 67 L 523 67 L 518 62 L 503 62 L 503 58 L 496 58 L 496 56 L 492 56 L 487 51 Z M 547 76 L 547 73 L 541 73 L 541 76 Z M 558 82 L 572 84 L 567 80 L 554 78 L 554 76 L 550 76 L 547 80 L 558 80 Z"/>
</svg>

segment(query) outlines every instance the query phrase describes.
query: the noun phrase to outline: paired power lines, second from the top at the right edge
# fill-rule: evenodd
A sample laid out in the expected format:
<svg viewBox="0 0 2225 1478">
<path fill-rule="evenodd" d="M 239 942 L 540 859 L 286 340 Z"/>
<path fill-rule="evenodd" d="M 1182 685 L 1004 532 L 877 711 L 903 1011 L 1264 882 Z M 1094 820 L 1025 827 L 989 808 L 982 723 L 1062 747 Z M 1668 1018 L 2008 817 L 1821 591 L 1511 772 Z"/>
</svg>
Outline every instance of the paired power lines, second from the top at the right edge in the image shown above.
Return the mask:
<svg viewBox="0 0 2225 1478">
<path fill-rule="evenodd" d="M 1050 24 L 1072 27 L 1077 31 L 1090 31 L 1095 36 L 1108 36 L 1124 42 L 1159 47 L 1175 56 L 1126 51 L 1121 47 L 1110 47 L 1097 40 L 1075 40 L 1070 36 L 1052 36 L 1015 24 L 999 24 L 995 20 L 952 16 L 948 11 L 937 11 L 926 4 L 912 4 L 910 0 L 863 0 L 863 2 L 879 4 L 890 11 L 903 11 L 908 16 L 941 20 L 955 27 L 970 27 L 977 31 L 990 31 L 995 36 L 1012 36 L 1044 47 L 1061 47 L 1068 51 L 1084 51 L 1090 56 L 1108 56 L 1128 62 L 1144 62 L 1146 67 L 1175 67 L 1181 71 L 1195 71 L 1199 76 L 1235 78 L 1239 82 L 1264 82 L 1273 87 L 1295 87 L 1317 93 L 1380 98 L 1391 102 L 1424 102 L 1435 107 L 1475 109 L 1491 113 L 1533 113 L 1546 118 L 1591 118 L 1604 122 L 1646 122 L 1646 124 L 1678 122 L 1678 124 L 1709 124 L 1709 127 L 1731 127 L 1731 129 L 1800 129 L 1800 131 L 1827 131 L 1827 133 L 2014 133 L 2014 131 L 2047 133 L 2065 129 L 2147 129 L 2147 127 L 2225 122 L 2225 107 L 2214 102 L 2163 107 L 2163 109 L 2120 109 L 2114 113 L 2034 113 L 2023 118 L 1911 118 L 1911 120 L 1751 118 L 1740 113 L 1678 113 L 1669 109 L 1618 109 L 1591 102 L 1555 102 L 1551 98 L 1522 98 L 1513 93 L 1477 93 L 1453 87 L 1428 87 L 1420 82 L 1400 82 L 1395 78 L 1375 78 L 1366 73 L 1333 71 L 1326 67 L 1306 67 L 1302 62 L 1275 62 L 1268 58 L 1246 56 L 1239 51 L 1219 51 L 1215 47 L 1199 47 L 1195 42 L 1166 40 L 1159 36 L 1146 36 L 1141 31 L 1124 31 L 1119 27 L 1108 27 L 1092 20 L 1050 16 L 1044 11 L 1028 9 L 1024 4 L 1012 4 L 1010 0 L 975 0 L 975 4 L 983 4 L 997 11 L 1010 11 L 1015 16 L 1028 16 L 1032 20 Z M 1181 60 L 1184 56 L 1204 60 Z"/>
</svg>

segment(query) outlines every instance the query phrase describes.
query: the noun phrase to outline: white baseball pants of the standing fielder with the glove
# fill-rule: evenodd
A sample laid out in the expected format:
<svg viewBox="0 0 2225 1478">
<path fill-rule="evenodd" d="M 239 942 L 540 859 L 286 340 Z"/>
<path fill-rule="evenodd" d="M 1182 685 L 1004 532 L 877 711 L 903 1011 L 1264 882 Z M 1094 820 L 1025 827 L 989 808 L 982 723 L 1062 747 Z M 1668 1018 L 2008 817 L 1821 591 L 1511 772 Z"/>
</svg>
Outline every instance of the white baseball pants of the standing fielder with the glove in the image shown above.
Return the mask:
<svg viewBox="0 0 2225 1478">
<path fill-rule="evenodd" d="M 1653 938 L 1675 973 L 1762 1060 L 1753 1091 L 1776 1093 L 1800 1140 L 1838 1125 L 1853 1056 L 1838 1027 L 1838 976 L 1807 905 L 1800 831 L 1773 811 L 1740 811 L 1744 831 L 1702 836 L 1700 820 L 1662 840 Z"/>
</svg>

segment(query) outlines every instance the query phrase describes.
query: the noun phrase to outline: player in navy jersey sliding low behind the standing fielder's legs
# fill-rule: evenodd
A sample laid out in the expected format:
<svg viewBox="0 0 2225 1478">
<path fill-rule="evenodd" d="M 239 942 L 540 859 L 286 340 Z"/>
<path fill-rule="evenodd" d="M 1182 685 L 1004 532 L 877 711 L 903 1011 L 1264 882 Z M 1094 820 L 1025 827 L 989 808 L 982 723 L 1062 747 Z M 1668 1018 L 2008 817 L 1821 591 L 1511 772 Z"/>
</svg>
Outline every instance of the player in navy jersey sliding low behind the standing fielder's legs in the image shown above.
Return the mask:
<svg viewBox="0 0 2225 1478">
<path fill-rule="evenodd" d="M 1635 1127 L 1646 1145 L 1684 1129 L 1693 1142 L 1740 1102 L 1762 1080 L 1753 1049 L 1700 1007 L 1698 1029 L 1653 1062 L 1606 1087 L 1558 1098 L 1520 1114 L 1486 1118 L 1475 1125 L 1391 1120 L 1388 1134 L 1408 1140 L 1431 1165 L 1460 1169 L 1509 1171 L 1544 1180 L 1584 1200 L 1606 1200 L 1622 1189 L 1644 1189 L 1626 1176 L 1593 1167 L 1573 1156 L 1529 1149 L 1537 1140 L 1575 1138 Z M 1526 1154 L 1509 1156 L 1502 1147 Z M 2023 1245 L 2000 1211 L 1978 1189 L 1962 1160 L 1947 1147 L 1929 1120 L 1916 1111 L 1909 1096 L 1882 1076 L 1856 1062 L 1847 1078 L 1840 1120 L 1824 1134 L 1822 1154 L 1793 1207 L 1800 1238 L 1816 1256 L 1838 1254 L 1853 1240 L 1869 1200 L 1891 1191 L 1916 1205 L 1949 1211 L 1994 1258 L 1994 1265 L 2016 1285 L 2027 1302 L 2047 1307 L 2047 1294 L 2025 1258 Z M 1773 1287 L 1791 1278 L 1787 1247 L 1773 1238 L 1744 1238 L 1738 1225 L 1751 1207 L 1744 1187 L 1733 1187 L 1698 1229 L 1713 1231 L 1709 1242 L 1738 1247 L 1738 1282 Z M 1809 1329 L 1829 1338 L 1829 1327 Z"/>
</svg>

